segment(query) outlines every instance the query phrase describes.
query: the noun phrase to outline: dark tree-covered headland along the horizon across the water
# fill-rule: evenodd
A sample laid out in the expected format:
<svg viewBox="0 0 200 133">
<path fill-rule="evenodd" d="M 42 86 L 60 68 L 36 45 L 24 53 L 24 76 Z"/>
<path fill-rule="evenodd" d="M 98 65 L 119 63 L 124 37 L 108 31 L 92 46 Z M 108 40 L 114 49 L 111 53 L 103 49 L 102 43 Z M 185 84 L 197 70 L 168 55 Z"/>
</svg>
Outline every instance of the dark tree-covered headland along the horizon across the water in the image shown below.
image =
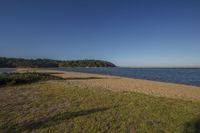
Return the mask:
<svg viewBox="0 0 200 133">
<path fill-rule="evenodd" d="M 102 60 L 51 60 L 51 59 L 23 59 L 0 57 L 0 68 L 16 67 L 115 67 L 108 61 Z"/>
</svg>

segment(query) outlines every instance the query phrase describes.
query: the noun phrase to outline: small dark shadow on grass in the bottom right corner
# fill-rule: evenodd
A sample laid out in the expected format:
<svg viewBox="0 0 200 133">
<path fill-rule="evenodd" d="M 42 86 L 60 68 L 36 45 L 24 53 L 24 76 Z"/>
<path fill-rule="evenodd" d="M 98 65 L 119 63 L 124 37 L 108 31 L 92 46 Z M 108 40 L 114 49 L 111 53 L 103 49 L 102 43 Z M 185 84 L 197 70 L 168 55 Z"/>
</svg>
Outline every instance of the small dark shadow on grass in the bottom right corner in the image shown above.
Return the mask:
<svg viewBox="0 0 200 133">
<path fill-rule="evenodd" d="M 200 119 L 186 123 L 183 133 L 200 133 Z"/>
</svg>

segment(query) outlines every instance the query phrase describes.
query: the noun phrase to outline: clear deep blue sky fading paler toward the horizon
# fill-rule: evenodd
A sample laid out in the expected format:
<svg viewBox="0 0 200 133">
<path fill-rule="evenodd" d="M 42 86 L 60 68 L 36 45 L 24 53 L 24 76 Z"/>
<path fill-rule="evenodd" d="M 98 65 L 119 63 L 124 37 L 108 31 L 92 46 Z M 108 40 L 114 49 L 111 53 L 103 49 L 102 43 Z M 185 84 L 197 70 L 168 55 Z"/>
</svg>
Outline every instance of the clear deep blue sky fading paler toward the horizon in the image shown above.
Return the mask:
<svg viewBox="0 0 200 133">
<path fill-rule="evenodd" d="M 1 0 L 0 56 L 200 66 L 200 0 Z"/>
</svg>

